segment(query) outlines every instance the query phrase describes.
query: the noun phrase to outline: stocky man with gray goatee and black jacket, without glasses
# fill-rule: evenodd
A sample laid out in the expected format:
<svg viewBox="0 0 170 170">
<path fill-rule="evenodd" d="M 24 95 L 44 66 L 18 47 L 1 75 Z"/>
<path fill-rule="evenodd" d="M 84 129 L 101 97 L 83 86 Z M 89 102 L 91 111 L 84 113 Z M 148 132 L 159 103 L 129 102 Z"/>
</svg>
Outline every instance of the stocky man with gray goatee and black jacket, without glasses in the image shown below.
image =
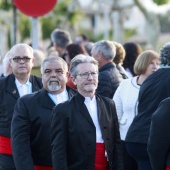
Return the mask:
<svg viewBox="0 0 170 170">
<path fill-rule="evenodd" d="M 41 65 L 43 89 L 25 95 L 16 104 L 12 119 L 12 150 L 17 170 L 52 170 L 50 125 L 53 107 L 76 91 L 66 87 L 68 67 L 56 56 Z"/>
</svg>

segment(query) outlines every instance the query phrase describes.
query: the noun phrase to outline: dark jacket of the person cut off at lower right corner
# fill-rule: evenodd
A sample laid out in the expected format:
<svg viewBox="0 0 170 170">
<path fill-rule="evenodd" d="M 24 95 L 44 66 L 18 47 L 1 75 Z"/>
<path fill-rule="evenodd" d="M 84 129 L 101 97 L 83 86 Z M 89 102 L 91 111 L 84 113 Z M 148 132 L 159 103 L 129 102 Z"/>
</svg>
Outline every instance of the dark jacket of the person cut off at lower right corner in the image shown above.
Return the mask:
<svg viewBox="0 0 170 170">
<path fill-rule="evenodd" d="M 170 98 L 154 112 L 148 140 L 148 153 L 153 170 L 170 167 Z"/>
</svg>

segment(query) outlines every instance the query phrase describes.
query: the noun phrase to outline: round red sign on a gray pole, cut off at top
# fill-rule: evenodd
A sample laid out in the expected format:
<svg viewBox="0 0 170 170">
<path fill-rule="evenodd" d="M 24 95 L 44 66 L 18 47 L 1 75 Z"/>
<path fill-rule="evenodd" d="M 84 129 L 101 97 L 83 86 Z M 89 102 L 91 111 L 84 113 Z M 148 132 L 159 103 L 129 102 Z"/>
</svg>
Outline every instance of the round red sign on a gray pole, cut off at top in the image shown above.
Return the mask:
<svg viewBox="0 0 170 170">
<path fill-rule="evenodd" d="M 15 6 L 24 14 L 32 17 L 42 16 L 50 12 L 57 0 L 14 0 Z"/>
</svg>

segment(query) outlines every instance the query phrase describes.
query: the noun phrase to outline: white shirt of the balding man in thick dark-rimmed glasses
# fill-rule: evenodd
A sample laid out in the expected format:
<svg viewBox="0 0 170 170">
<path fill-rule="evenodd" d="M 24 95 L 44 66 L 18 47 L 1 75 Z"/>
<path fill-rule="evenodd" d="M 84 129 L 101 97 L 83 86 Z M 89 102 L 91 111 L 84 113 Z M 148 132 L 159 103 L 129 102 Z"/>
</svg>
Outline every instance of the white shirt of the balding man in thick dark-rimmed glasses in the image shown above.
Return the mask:
<svg viewBox="0 0 170 170">
<path fill-rule="evenodd" d="M 17 86 L 18 92 L 20 97 L 22 97 L 25 94 L 32 93 L 32 83 L 27 80 L 25 84 L 21 84 L 16 78 L 15 78 L 15 84 Z"/>
</svg>

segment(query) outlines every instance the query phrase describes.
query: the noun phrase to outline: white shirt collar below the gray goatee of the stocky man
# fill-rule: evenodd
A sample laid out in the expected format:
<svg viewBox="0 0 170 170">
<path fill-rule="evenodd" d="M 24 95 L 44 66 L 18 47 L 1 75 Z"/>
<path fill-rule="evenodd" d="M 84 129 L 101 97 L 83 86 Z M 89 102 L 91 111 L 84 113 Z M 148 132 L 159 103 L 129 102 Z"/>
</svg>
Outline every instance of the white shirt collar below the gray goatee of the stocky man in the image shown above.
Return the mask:
<svg viewBox="0 0 170 170">
<path fill-rule="evenodd" d="M 68 92 L 67 92 L 66 89 L 63 92 L 61 92 L 60 94 L 48 93 L 48 95 L 50 96 L 52 101 L 55 103 L 55 105 L 62 103 L 62 102 L 65 102 L 66 100 L 69 99 Z"/>
</svg>

